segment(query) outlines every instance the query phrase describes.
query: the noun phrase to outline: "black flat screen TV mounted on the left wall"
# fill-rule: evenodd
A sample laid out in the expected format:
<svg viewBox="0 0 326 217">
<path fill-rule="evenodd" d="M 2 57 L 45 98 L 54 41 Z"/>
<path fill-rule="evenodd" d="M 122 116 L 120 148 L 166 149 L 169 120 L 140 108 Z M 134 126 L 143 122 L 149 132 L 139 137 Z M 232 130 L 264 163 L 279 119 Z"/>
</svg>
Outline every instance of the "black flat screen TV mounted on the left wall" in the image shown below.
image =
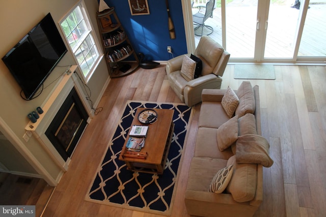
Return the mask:
<svg viewBox="0 0 326 217">
<path fill-rule="evenodd" d="M 20 85 L 22 98 L 32 100 L 39 96 L 38 89 L 66 52 L 66 45 L 48 13 L 2 60 Z"/>
</svg>

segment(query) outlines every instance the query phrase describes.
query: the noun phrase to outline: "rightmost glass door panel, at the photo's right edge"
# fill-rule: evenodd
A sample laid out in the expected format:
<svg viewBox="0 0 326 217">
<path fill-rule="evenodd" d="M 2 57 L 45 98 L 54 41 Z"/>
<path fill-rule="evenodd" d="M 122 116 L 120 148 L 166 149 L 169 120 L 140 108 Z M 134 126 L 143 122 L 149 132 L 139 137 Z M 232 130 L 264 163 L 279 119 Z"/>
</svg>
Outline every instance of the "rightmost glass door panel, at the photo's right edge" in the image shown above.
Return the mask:
<svg viewBox="0 0 326 217">
<path fill-rule="evenodd" d="M 311 1 L 312 2 L 312 1 Z M 326 56 L 326 4 L 309 4 L 298 56 Z"/>
</svg>

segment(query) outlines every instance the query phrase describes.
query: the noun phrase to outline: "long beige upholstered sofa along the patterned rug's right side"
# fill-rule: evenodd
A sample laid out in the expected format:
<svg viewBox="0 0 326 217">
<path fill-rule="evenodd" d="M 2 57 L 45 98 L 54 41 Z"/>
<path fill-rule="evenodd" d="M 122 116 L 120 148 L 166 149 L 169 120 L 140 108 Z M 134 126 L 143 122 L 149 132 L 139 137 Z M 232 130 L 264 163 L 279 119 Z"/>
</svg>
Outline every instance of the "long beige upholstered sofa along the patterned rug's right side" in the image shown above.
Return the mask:
<svg viewBox="0 0 326 217">
<path fill-rule="evenodd" d="M 218 129 L 223 126 L 228 130 L 224 123 L 232 119 L 221 103 L 226 91 L 204 89 L 202 92 L 194 157 L 185 192 L 185 205 L 191 215 L 252 216 L 262 202 L 262 164 L 266 167 L 273 164 L 268 156 L 269 144 L 261 137 L 259 87 L 252 87 L 249 81 L 243 81 L 238 90 L 234 90 L 239 103 L 232 118 L 237 120 L 238 139 L 225 150 L 220 150 L 218 141 L 221 140 L 218 135 L 221 137 L 221 132 L 219 134 Z M 223 134 L 222 137 L 226 138 L 227 135 Z M 252 148 L 253 146 L 247 145 L 247 141 L 255 143 L 252 142 L 253 137 L 254 140 L 258 138 L 258 143 L 263 143 L 262 152 L 265 153 L 254 154 L 251 156 L 253 158 L 246 160 L 246 157 L 243 158 L 246 154 L 241 154 L 243 152 L 240 147 L 243 145 L 240 143 L 246 143 L 244 147 Z M 256 150 L 254 148 L 253 152 Z M 229 165 L 233 165 L 233 172 L 226 189 L 219 194 L 210 192 L 209 187 L 216 172 Z"/>
</svg>

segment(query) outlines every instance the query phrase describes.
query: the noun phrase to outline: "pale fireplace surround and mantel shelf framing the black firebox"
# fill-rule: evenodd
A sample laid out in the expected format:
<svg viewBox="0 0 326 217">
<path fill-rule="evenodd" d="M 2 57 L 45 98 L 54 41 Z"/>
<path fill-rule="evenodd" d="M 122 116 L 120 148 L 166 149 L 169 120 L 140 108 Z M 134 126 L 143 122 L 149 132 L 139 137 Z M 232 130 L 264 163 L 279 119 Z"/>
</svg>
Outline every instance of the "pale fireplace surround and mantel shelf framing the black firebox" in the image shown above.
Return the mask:
<svg viewBox="0 0 326 217">
<path fill-rule="evenodd" d="M 63 170 L 68 170 L 68 165 L 70 162 L 70 158 L 66 161 L 60 156 L 60 153 L 57 151 L 55 146 L 52 145 L 50 140 L 45 135 L 45 131 L 49 127 L 51 121 L 56 116 L 59 111 L 61 105 L 66 100 L 69 95 L 71 89 L 75 87 L 76 92 L 82 101 L 89 118 L 87 122 L 91 121 L 93 117 L 92 109 L 89 103 L 86 100 L 85 94 L 83 92 L 82 86 L 80 86 L 78 79 L 74 73 L 77 66 L 71 66 L 70 74 L 64 74 L 61 79 L 58 81 L 55 88 L 49 95 L 49 97 L 45 100 L 43 105 L 41 106 L 43 113 L 39 114 L 39 118 L 35 123 L 29 122 L 25 127 L 26 131 L 31 131 L 33 135 L 38 139 L 38 141 L 42 144 L 47 153 L 51 156 L 51 158 L 57 163 L 57 165 Z"/>
</svg>

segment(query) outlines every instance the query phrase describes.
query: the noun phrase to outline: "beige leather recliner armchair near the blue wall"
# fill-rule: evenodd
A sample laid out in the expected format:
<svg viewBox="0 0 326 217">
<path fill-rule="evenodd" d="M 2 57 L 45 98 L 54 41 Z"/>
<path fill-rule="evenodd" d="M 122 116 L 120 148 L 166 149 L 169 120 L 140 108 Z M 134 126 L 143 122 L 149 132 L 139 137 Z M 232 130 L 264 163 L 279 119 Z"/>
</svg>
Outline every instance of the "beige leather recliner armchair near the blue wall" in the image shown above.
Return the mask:
<svg viewBox="0 0 326 217">
<path fill-rule="evenodd" d="M 191 54 L 184 54 L 191 56 Z M 191 107 L 202 101 L 203 89 L 220 89 L 222 76 L 230 58 L 230 53 L 209 36 L 202 36 L 194 55 L 202 60 L 201 76 L 187 81 L 181 75 L 184 55 L 168 60 L 166 66 L 167 76 L 172 89 L 187 106 Z"/>
</svg>

